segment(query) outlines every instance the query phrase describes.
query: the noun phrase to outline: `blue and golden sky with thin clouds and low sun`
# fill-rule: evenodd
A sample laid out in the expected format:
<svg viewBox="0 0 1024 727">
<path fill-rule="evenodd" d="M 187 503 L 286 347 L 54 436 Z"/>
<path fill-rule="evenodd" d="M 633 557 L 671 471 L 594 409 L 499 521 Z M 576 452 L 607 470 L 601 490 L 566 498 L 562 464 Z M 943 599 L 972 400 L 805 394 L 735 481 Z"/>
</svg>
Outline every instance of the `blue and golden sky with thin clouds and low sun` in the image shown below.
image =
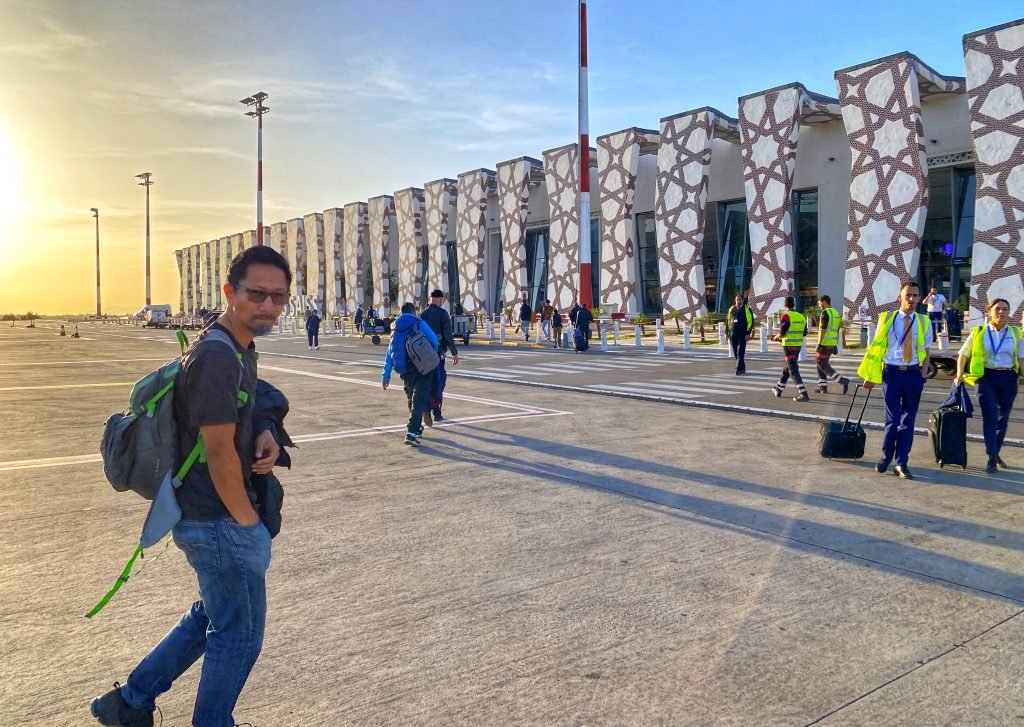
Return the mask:
<svg viewBox="0 0 1024 727">
<path fill-rule="evenodd" d="M 964 75 L 1019 0 L 592 0 L 592 138 L 909 50 Z M 173 251 L 577 138 L 577 0 L 0 0 L 0 313 L 178 302 Z"/>
</svg>

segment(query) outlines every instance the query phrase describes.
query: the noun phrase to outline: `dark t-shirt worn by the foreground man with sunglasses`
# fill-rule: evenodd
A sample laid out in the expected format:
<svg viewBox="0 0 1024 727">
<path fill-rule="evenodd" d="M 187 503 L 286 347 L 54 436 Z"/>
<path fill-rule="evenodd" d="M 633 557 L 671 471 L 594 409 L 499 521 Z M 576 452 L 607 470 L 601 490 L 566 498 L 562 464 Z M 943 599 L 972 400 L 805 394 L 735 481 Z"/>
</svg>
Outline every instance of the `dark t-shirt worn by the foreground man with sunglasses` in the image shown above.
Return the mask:
<svg viewBox="0 0 1024 727">
<path fill-rule="evenodd" d="M 226 333 L 234 343 L 236 353 L 220 341 L 202 342 L 195 346 L 182 362 L 180 379 L 175 387 L 174 418 L 178 423 L 178 457 L 180 461 L 191 452 L 199 438 L 199 428 L 213 424 L 237 424 L 234 447 L 242 462 L 242 477 L 249 501 L 256 503 L 256 493 L 250 481 L 256 459 L 256 433 L 253 426 L 253 404 L 256 399 L 256 347 L 239 346 L 224 327 L 212 328 Z M 239 407 L 239 373 L 241 390 L 248 395 Z M 176 490 L 181 514 L 189 520 L 219 520 L 230 517 L 227 508 L 214 489 L 210 470 L 199 461 L 185 475 Z"/>
</svg>

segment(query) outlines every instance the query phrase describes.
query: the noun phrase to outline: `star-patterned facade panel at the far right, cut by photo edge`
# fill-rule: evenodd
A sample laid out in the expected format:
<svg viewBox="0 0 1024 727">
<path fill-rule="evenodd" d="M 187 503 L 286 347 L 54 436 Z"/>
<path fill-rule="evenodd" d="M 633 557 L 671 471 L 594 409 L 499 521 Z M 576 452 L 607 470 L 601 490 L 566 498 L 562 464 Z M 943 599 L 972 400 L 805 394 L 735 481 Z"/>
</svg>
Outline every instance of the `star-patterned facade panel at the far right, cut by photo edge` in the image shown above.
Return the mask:
<svg viewBox="0 0 1024 727">
<path fill-rule="evenodd" d="M 1024 22 L 964 37 L 977 164 L 971 322 L 1006 298 L 1024 313 Z"/>
</svg>

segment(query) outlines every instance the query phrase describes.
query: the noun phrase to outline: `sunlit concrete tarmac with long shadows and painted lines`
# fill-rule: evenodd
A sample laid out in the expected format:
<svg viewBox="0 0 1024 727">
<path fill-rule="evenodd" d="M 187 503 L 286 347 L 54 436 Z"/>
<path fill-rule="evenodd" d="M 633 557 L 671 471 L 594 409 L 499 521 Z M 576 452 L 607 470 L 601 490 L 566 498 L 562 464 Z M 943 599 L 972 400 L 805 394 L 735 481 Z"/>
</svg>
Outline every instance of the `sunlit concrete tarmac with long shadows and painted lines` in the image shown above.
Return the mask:
<svg viewBox="0 0 1024 727">
<path fill-rule="evenodd" d="M 81 331 L 0 329 L 0 725 L 90 724 L 89 700 L 196 597 L 161 545 L 83 617 L 145 513 L 103 479 L 102 422 L 176 347 L 169 332 Z M 689 405 L 579 390 L 579 373 L 502 381 L 473 370 L 510 365 L 470 346 L 450 369 L 465 375 L 450 381 L 449 421 L 417 450 L 401 443 L 400 389 L 359 364 L 383 347 L 258 346 L 299 448 L 279 473 L 266 640 L 239 722 L 1024 720 L 1024 470 L 984 474 L 977 442 L 967 472 L 940 471 L 918 437 L 906 482 L 873 472 L 877 432 L 863 461 L 821 460 L 816 422 L 781 409 L 804 412 L 792 401 L 753 416 L 742 394 Z M 729 364 L 676 366 L 657 378 Z M 587 384 L 627 377 L 652 381 L 631 366 Z M 189 722 L 198 676 L 160 699 L 164 724 Z"/>
</svg>

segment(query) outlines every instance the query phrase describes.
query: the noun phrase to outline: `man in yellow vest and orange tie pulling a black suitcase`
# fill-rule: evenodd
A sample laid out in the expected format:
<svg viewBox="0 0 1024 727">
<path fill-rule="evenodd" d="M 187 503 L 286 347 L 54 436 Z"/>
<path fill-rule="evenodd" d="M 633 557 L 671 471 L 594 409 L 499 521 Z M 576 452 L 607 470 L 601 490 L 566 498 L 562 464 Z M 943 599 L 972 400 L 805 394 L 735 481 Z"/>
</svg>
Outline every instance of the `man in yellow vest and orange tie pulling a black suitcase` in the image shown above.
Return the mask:
<svg viewBox="0 0 1024 727">
<path fill-rule="evenodd" d="M 857 369 L 865 389 L 882 384 L 885 400 L 882 459 L 874 470 L 882 474 L 895 460 L 894 471 L 901 479 L 913 479 L 907 461 L 913 445 L 913 421 L 928 374 L 928 347 L 932 345 L 931 324 L 924 313 L 914 312 L 920 300 L 918 284 L 904 283 L 899 291 L 899 310 L 879 315 L 874 340 L 868 344 Z"/>
</svg>

